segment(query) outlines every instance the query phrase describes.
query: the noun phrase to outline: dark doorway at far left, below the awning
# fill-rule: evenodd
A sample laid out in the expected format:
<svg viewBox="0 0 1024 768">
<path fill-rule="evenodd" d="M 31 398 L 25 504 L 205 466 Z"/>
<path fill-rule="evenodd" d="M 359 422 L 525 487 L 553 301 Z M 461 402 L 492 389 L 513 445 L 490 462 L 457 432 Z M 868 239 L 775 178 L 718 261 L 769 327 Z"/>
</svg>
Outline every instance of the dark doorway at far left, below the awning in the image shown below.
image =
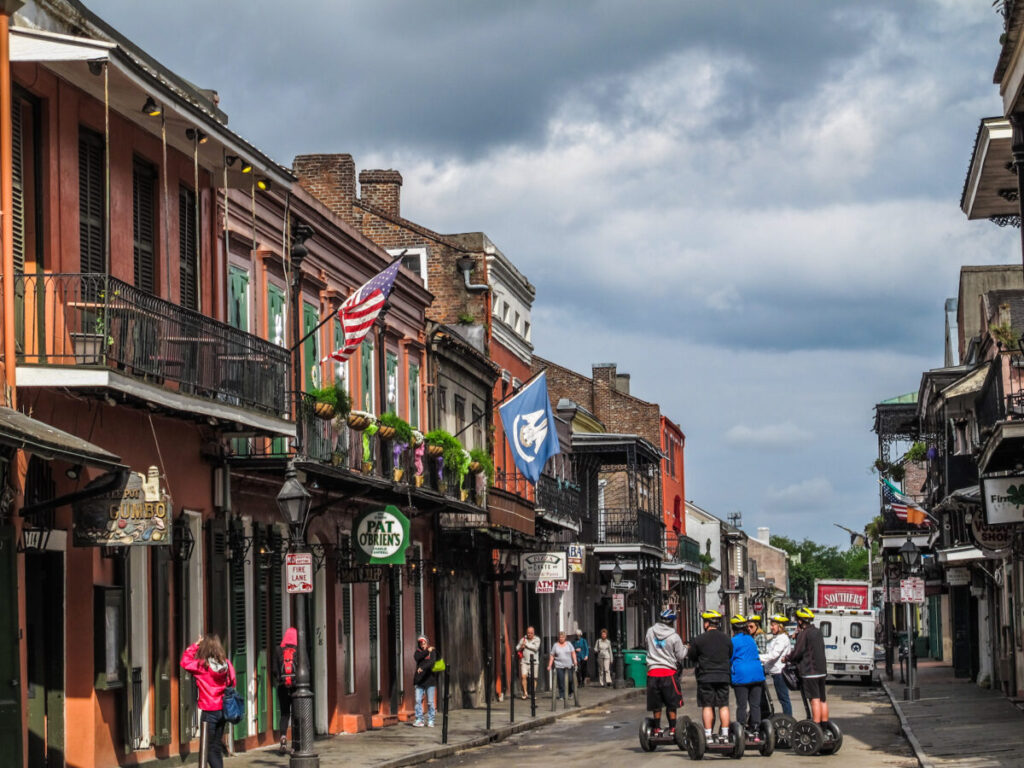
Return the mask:
<svg viewBox="0 0 1024 768">
<path fill-rule="evenodd" d="M 29 768 L 65 764 L 62 552 L 25 555 Z"/>
</svg>

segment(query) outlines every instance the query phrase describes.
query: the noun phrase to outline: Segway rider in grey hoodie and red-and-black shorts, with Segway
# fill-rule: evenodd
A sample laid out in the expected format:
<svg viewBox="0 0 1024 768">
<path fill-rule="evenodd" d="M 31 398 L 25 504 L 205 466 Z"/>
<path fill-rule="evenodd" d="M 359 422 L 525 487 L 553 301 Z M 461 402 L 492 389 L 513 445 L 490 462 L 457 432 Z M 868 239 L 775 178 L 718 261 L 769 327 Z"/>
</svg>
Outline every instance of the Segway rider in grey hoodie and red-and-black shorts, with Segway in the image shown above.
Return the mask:
<svg viewBox="0 0 1024 768">
<path fill-rule="evenodd" d="M 674 624 L 676 612 L 666 608 L 657 616 L 657 623 L 647 630 L 647 709 L 650 717 L 640 725 L 640 746 L 644 752 L 653 752 L 658 744 L 675 743 L 680 750 L 686 749 L 685 734 L 688 718 L 677 728 L 676 710 L 683 702 L 683 693 L 678 675 L 686 658 L 686 646 L 676 633 Z M 662 707 L 669 716 L 668 728 L 662 730 Z"/>
</svg>

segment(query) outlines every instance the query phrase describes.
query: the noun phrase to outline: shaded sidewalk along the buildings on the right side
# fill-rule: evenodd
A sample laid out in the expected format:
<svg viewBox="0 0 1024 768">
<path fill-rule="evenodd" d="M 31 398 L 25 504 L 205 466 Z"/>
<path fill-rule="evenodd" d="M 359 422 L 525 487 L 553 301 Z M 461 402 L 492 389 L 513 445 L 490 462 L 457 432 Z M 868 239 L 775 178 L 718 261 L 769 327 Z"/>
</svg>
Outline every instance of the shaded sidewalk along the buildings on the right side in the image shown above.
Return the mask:
<svg viewBox="0 0 1024 768">
<path fill-rule="evenodd" d="M 882 684 L 922 768 L 1024 766 L 1024 714 L 1010 699 L 942 662 L 922 662 L 918 678 L 918 701 L 903 700 L 899 678 Z"/>
</svg>

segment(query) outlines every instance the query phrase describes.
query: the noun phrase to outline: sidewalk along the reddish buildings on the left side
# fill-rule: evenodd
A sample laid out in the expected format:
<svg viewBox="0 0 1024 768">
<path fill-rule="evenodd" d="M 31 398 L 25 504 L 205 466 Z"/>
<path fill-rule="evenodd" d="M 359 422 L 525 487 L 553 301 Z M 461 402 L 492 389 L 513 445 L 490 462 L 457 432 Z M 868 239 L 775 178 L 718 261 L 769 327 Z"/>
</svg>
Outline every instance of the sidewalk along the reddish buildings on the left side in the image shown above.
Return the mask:
<svg viewBox="0 0 1024 768">
<path fill-rule="evenodd" d="M 612 701 L 637 698 L 638 707 L 643 707 L 640 698 L 642 688 L 601 688 L 588 685 L 580 689 L 580 707 L 563 709 L 559 702 L 556 711 L 551 710 L 551 695 L 537 698 L 537 717 L 529 716 L 529 701 L 517 698 L 515 701 L 515 723 L 509 723 L 509 701 L 493 701 L 490 708 L 490 731 L 485 730 L 486 710 L 452 710 L 449 713 L 449 742 L 441 744 L 441 713 L 437 713 L 437 727 L 413 728 L 409 723 L 399 723 L 380 730 L 364 733 L 339 733 L 318 738 L 315 741 L 321 765 L 346 768 L 398 768 L 416 765 L 428 760 L 445 758 L 457 752 L 482 746 L 493 741 L 501 741 L 514 733 L 539 728 L 555 722 L 558 718 L 577 715 L 584 710 L 604 707 Z M 571 700 L 570 700 L 571 703 Z M 285 768 L 288 756 L 280 755 L 276 746 L 267 746 L 239 753 L 226 761 L 227 768 Z"/>
</svg>

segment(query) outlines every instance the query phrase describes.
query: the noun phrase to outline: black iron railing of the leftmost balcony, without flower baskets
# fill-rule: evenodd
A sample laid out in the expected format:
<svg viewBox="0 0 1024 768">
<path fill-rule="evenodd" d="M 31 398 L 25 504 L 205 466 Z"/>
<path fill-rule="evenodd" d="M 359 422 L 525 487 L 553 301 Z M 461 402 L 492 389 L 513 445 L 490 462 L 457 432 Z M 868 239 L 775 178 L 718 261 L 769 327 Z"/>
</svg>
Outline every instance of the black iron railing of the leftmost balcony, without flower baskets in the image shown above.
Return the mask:
<svg viewBox="0 0 1024 768">
<path fill-rule="evenodd" d="M 17 361 L 110 369 L 281 416 L 288 350 L 97 273 L 15 274 Z"/>
</svg>

